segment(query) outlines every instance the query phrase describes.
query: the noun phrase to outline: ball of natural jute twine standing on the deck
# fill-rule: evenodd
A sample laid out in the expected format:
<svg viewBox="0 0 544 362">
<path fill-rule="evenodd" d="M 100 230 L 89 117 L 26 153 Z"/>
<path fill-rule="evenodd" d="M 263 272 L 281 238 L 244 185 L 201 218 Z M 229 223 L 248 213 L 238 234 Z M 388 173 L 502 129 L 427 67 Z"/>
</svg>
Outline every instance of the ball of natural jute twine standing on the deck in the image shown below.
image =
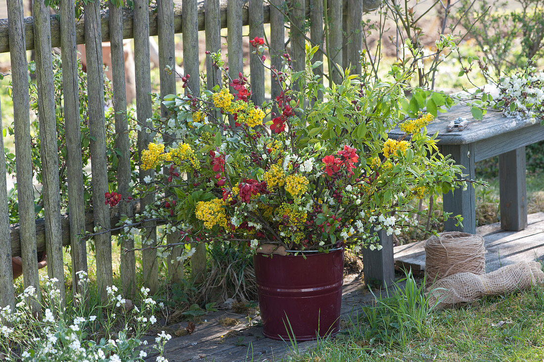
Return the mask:
<svg viewBox="0 0 544 362">
<path fill-rule="evenodd" d="M 485 273 L 483 237 L 449 231 L 433 235 L 425 242 L 425 273 L 431 283 L 466 272 Z"/>
</svg>

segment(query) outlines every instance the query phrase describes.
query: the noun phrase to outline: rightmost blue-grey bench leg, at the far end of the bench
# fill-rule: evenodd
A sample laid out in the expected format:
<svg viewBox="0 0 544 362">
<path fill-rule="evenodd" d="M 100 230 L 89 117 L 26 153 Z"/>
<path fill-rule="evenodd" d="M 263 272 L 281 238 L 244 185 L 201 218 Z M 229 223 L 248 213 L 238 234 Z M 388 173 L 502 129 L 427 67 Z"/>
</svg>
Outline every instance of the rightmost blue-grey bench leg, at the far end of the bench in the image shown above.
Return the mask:
<svg viewBox="0 0 544 362">
<path fill-rule="evenodd" d="M 527 227 L 527 182 L 525 147 L 499 155 L 500 227 L 523 230 Z"/>
</svg>

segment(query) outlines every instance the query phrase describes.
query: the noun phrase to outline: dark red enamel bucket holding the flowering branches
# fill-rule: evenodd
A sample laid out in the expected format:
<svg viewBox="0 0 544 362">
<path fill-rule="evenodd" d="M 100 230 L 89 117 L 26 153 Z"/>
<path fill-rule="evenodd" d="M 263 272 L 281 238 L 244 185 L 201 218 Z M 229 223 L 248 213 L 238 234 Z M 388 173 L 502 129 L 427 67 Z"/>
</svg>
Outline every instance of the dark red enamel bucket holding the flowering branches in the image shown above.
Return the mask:
<svg viewBox="0 0 544 362">
<path fill-rule="evenodd" d="M 344 250 L 254 256 L 265 336 L 308 341 L 340 329 Z"/>
</svg>

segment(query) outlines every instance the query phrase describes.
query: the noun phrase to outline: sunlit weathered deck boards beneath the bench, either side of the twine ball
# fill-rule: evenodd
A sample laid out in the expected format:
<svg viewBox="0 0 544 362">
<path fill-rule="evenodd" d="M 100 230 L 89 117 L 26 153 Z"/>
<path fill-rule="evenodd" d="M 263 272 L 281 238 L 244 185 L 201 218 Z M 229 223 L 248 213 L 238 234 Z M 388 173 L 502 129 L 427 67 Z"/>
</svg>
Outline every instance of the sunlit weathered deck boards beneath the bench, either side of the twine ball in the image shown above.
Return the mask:
<svg viewBox="0 0 544 362">
<path fill-rule="evenodd" d="M 544 212 L 527 216 L 527 228 L 505 231 L 500 223 L 479 226 L 476 233 L 484 238 L 486 271 L 523 260 L 544 260 Z M 416 273 L 425 270 L 425 241 L 394 248 L 395 268 L 412 268 Z"/>
</svg>

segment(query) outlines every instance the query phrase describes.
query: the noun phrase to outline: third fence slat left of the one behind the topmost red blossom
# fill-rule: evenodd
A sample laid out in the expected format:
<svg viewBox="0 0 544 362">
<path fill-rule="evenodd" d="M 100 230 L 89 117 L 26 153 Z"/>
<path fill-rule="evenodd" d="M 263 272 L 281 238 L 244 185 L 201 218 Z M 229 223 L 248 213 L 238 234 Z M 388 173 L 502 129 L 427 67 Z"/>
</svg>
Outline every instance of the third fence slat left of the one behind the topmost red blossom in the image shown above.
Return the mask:
<svg viewBox="0 0 544 362">
<path fill-rule="evenodd" d="M 197 16 L 196 0 L 183 0 L 183 16 L 181 19 L 183 29 L 183 71 L 190 75 L 189 87 L 193 94 L 200 94 L 199 79 L 199 24 Z M 206 244 L 194 245 L 196 251 L 191 256 L 191 276 L 201 281 L 206 273 Z"/>
</svg>

